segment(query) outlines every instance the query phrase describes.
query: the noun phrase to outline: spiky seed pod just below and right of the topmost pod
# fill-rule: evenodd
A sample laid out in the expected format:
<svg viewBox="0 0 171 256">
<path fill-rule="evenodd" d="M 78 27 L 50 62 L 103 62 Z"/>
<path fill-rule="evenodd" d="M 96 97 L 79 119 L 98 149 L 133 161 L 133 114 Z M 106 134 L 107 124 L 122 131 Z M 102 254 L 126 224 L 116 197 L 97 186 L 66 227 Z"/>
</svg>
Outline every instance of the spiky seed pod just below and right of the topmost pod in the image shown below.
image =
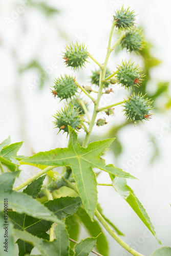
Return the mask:
<svg viewBox="0 0 171 256">
<path fill-rule="evenodd" d="M 126 36 L 121 40 L 121 47 L 127 51 L 139 52 L 144 48 L 144 34 L 142 30 L 133 29 L 126 33 Z"/>
</svg>

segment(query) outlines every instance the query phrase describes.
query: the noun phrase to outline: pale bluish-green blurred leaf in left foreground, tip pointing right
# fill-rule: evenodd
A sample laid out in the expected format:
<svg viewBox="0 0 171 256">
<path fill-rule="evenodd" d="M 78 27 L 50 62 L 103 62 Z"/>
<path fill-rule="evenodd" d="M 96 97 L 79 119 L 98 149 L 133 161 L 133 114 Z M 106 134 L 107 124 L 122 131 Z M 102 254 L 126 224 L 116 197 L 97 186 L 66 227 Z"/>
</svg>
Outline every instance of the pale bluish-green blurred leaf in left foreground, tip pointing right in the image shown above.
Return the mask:
<svg viewBox="0 0 171 256">
<path fill-rule="evenodd" d="M 0 210 L 4 209 L 4 198 L 8 199 L 8 209 L 19 214 L 27 214 L 34 218 L 45 219 L 60 223 L 56 216 L 45 206 L 34 200 L 31 196 L 12 190 L 15 177 L 19 172 L 3 173 L 0 175 Z"/>
</svg>

